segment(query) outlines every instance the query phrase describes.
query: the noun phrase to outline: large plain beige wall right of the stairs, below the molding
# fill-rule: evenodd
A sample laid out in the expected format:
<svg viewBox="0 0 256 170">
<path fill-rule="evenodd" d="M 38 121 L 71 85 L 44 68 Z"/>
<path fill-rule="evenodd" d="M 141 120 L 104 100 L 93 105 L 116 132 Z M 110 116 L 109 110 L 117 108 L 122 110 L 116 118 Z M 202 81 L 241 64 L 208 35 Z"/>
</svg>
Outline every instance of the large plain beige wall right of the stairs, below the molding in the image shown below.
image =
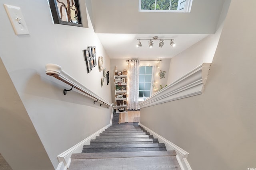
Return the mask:
<svg viewBox="0 0 256 170">
<path fill-rule="evenodd" d="M 231 1 L 204 94 L 140 110 L 143 125 L 189 152 L 193 170 L 256 167 L 255 6 Z"/>
</svg>

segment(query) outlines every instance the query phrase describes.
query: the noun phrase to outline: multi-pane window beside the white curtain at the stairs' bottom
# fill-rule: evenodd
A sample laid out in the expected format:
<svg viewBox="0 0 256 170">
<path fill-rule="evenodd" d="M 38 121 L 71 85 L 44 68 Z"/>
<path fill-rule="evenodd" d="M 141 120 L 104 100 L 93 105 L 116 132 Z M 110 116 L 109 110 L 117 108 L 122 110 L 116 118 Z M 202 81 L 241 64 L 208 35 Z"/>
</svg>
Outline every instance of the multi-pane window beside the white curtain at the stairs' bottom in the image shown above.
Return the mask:
<svg viewBox="0 0 256 170">
<path fill-rule="evenodd" d="M 139 98 L 150 97 L 152 90 L 153 66 L 140 66 Z"/>
</svg>

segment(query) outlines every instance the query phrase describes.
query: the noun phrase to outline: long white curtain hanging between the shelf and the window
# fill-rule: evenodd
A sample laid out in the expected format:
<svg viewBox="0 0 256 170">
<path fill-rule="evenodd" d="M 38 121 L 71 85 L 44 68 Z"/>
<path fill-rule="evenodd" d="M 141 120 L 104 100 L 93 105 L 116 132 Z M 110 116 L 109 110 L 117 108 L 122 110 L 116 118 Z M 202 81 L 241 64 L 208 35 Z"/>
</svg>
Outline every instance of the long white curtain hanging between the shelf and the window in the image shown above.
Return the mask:
<svg viewBox="0 0 256 170">
<path fill-rule="evenodd" d="M 140 61 L 129 60 L 129 73 L 128 73 L 128 104 L 127 109 L 138 110 L 139 104 L 139 74 L 140 74 Z"/>
</svg>

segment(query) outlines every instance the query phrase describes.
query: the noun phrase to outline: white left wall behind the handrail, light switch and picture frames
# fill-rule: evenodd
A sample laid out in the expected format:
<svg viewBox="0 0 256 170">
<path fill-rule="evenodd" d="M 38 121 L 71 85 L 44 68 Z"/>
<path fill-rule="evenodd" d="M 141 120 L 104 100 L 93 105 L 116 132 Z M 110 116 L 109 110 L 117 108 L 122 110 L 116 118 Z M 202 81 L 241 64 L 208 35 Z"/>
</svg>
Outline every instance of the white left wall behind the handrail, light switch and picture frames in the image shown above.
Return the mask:
<svg viewBox="0 0 256 170">
<path fill-rule="evenodd" d="M 29 35 L 15 35 L 3 4 L 21 7 Z M 82 18 L 86 17 L 84 0 L 80 1 L 80 6 Z M 100 107 L 99 103 L 94 105 L 92 99 L 76 90 L 64 96 L 63 89 L 70 86 L 46 75 L 45 65 L 54 63 L 62 66 L 84 86 L 111 102 L 110 85 L 106 86 L 106 82 L 103 87 L 100 85 L 103 72 L 99 72 L 97 65 L 87 73 L 82 50 L 89 45 L 96 46 L 97 59 L 98 56 L 104 57 L 107 70 L 110 69 L 110 59 L 94 33 L 89 17 L 89 28 L 53 24 L 47 0 L 2 0 L 0 18 L 1 59 L 56 168 L 58 154 L 109 124 L 111 108 Z"/>
</svg>

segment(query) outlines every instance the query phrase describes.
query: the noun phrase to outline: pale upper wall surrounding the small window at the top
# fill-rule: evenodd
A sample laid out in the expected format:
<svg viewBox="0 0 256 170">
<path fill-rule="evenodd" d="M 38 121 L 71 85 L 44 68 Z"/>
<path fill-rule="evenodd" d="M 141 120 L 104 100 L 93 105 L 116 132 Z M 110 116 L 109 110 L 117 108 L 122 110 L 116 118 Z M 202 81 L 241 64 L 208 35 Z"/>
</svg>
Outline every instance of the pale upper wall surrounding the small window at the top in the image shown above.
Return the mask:
<svg viewBox="0 0 256 170">
<path fill-rule="evenodd" d="M 223 3 L 224 0 L 194 0 L 190 13 L 166 13 L 139 12 L 138 0 L 93 0 L 95 32 L 210 34 L 215 32 Z"/>
</svg>

